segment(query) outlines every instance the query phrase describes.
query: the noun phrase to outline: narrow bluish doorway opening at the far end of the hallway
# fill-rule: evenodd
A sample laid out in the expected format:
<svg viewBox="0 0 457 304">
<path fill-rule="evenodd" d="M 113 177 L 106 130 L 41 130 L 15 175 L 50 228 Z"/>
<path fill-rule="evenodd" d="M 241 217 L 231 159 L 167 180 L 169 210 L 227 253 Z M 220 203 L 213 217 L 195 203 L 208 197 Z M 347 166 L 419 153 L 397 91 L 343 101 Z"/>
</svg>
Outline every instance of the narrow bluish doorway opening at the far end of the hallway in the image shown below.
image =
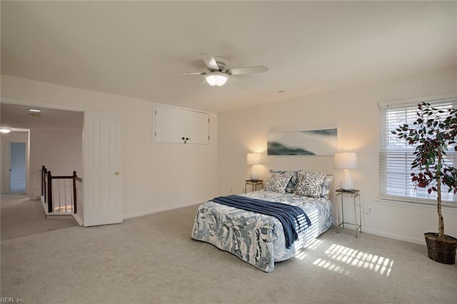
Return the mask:
<svg viewBox="0 0 457 304">
<path fill-rule="evenodd" d="M 9 144 L 9 191 L 26 192 L 26 143 Z"/>
</svg>

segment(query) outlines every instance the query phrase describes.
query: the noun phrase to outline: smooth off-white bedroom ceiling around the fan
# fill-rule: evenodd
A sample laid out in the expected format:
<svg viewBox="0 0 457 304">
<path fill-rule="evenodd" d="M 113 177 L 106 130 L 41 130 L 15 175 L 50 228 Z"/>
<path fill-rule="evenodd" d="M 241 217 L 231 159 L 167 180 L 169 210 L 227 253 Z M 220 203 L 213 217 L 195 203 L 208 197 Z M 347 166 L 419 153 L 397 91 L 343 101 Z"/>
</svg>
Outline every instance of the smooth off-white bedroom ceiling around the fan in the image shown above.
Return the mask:
<svg viewBox="0 0 457 304">
<path fill-rule="evenodd" d="M 200 53 L 269 71 L 164 75 Z M 1 1 L 1 74 L 207 111 L 451 66 L 456 1 Z"/>
</svg>

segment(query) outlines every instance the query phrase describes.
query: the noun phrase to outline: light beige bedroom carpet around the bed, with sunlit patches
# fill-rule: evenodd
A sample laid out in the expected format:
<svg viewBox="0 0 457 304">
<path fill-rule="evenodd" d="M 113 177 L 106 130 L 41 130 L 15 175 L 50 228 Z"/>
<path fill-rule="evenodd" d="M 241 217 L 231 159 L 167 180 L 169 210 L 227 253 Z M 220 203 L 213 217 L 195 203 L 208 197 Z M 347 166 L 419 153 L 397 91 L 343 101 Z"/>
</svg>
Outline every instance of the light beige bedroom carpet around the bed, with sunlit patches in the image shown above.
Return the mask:
<svg viewBox="0 0 457 304">
<path fill-rule="evenodd" d="M 128 202 L 126 202 L 128 203 Z M 263 273 L 190 238 L 197 206 L 1 241 L 1 297 L 26 303 L 456 303 L 457 265 L 333 228 Z"/>
</svg>

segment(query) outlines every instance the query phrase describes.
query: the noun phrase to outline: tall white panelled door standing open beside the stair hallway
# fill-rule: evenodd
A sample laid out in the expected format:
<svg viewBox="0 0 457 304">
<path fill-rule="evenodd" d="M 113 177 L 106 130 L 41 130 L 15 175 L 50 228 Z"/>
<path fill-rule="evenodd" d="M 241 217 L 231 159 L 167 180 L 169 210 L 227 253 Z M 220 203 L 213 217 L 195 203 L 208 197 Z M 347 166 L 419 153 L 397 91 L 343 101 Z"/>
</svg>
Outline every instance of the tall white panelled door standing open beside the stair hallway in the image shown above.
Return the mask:
<svg viewBox="0 0 457 304">
<path fill-rule="evenodd" d="M 84 112 L 84 226 L 122 223 L 121 115 Z"/>
</svg>

